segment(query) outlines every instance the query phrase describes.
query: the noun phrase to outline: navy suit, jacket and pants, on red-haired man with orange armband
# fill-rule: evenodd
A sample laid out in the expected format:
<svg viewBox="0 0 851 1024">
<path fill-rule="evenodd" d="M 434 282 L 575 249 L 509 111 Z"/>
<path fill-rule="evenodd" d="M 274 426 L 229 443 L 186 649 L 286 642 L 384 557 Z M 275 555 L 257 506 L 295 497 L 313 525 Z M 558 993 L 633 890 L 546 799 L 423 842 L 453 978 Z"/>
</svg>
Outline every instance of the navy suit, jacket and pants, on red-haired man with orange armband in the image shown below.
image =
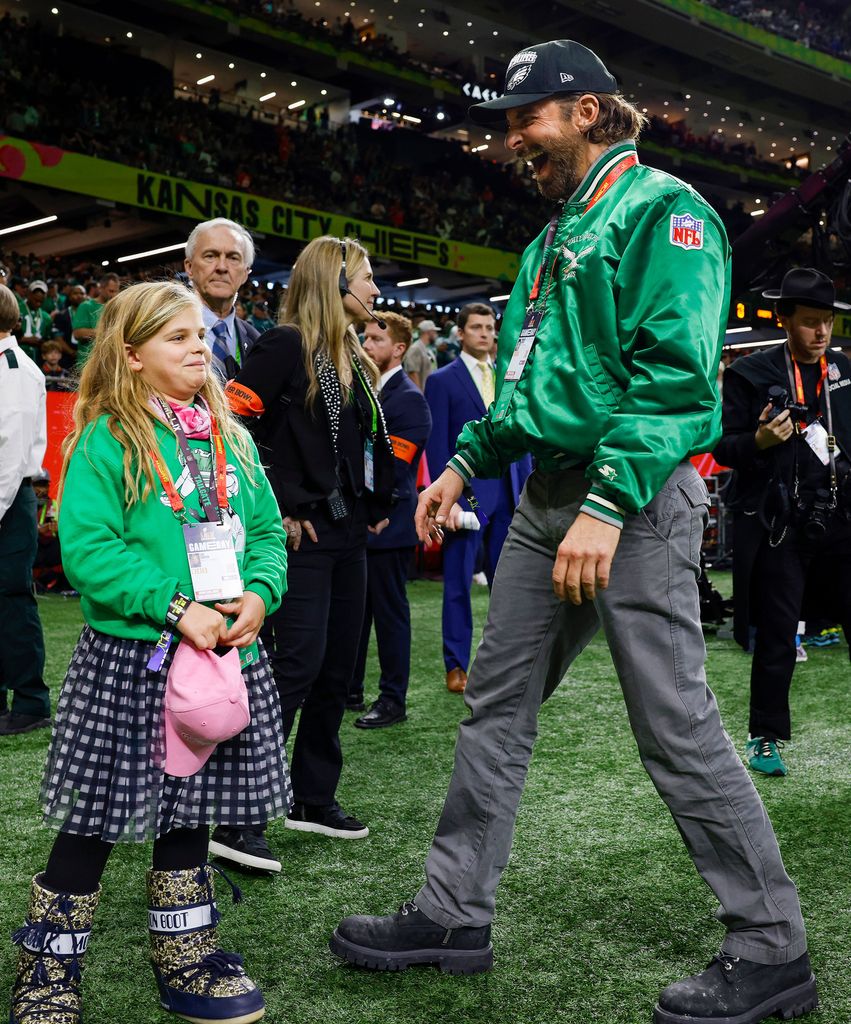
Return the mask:
<svg viewBox="0 0 851 1024">
<path fill-rule="evenodd" d="M 387 381 L 380 398 L 396 457 L 396 501 L 389 524 L 378 536 L 371 534 L 367 542 L 367 607 L 349 697 L 363 697 L 374 622 L 381 666 L 379 690 L 403 708 L 411 675 L 411 608 L 406 584 L 417 545 L 417 470 L 431 432 L 431 415 L 422 392 L 403 370 Z"/>
</svg>

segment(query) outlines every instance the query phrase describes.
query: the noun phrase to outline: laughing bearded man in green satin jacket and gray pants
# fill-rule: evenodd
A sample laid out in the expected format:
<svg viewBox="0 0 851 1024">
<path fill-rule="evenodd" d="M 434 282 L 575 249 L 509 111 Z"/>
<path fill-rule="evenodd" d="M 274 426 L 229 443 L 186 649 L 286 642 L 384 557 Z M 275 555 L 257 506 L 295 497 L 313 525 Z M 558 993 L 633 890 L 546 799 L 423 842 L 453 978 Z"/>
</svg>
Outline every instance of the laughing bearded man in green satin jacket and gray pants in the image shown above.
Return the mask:
<svg viewBox="0 0 851 1024">
<path fill-rule="evenodd" d="M 538 712 L 602 628 L 641 760 L 726 932 L 706 971 L 662 992 L 655 1024 L 800 1016 L 817 995 L 798 894 L 705 672 L 709 503 L 688 457 L 720 435 L 724 229 L 687 184 L 638 163 L 644 119 L 579 43 L 521 50 L 505 94 L 470 113 L 507 120 L 506 145 L 558 205 L 508 302 L 496 400 L 420 496 L 420 538 L 441 534 L 472 477 L 526 452 L 538 468 L 497 567 L 426 884 L 395 914 L 345 919 L 332 949 L 375 970 L 490 968 Z"/>
</svg>

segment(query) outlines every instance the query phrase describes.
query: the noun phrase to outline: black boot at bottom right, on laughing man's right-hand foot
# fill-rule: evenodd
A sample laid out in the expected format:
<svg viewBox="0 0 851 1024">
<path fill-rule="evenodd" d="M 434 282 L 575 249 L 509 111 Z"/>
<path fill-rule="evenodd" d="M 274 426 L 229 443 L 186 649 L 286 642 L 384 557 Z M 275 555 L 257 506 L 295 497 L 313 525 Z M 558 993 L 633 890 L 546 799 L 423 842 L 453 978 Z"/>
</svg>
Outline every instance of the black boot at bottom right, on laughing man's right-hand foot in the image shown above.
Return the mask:
<svg viewBox="0 0 851 1024">
<path fill-rule="evenodd" d="M 769 1017 L 803 1017 L 817 1006 L 806 953 L 791 964 L 754 964 L 719 953 L 706 971 L 665 989 L 653 1024 L 760 1024 Z"/>
</svg>

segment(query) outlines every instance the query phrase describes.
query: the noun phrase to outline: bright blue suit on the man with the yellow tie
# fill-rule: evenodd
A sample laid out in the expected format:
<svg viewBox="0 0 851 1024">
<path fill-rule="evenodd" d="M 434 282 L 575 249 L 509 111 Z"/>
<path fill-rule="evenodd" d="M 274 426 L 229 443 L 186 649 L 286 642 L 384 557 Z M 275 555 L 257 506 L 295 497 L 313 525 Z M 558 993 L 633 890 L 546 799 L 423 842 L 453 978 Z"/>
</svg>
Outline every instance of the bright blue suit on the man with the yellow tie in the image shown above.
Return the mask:
<svg viewBox="0 0 851 1024">
<path fill-rule="evenodd" d="M 431 410 L 433 429 L 426 446 L 428 470 L 436 479 L 455 455 L 458 435 L 464 424 L 480 420 L 486 410 L 475 381 L 462 358 L 431 374 L 425 396 Z M 484 545 L 484 571 L 488 585 L 508 534 L 514 509 L 520 500 L 531 458 L 524 456 L 511 464 L 497 480 L 475 479 L 473 494 L 490 522 L 480 532 L 463 529 L 446 531 L 443 540 L 443 662 L 446 672 L 470 664 L 473 642 L 473 612 L 470 587 L 479 545 Z M 467 502 L 461 502 L 467 508 Z"/>
</svg>

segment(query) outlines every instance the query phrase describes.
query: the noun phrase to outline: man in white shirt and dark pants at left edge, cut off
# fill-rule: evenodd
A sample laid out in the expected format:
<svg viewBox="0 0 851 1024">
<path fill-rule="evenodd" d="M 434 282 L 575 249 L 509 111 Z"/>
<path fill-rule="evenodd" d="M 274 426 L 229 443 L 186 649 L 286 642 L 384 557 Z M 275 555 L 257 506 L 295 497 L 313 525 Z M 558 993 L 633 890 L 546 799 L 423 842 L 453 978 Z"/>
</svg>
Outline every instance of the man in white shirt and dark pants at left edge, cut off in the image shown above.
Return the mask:
<svg viewBox="0 0 851 1024">
<path fill-rule="evenodd" d="M 38 547 L 36 496 L 47 446 L 44 374 L 14 336 L 19 311 L 0 285 L 0 735 L 50 725 L 44 636 L 33 596 Z M 8 706 L 8 691 L 12 691 Z"/>
</svg>

